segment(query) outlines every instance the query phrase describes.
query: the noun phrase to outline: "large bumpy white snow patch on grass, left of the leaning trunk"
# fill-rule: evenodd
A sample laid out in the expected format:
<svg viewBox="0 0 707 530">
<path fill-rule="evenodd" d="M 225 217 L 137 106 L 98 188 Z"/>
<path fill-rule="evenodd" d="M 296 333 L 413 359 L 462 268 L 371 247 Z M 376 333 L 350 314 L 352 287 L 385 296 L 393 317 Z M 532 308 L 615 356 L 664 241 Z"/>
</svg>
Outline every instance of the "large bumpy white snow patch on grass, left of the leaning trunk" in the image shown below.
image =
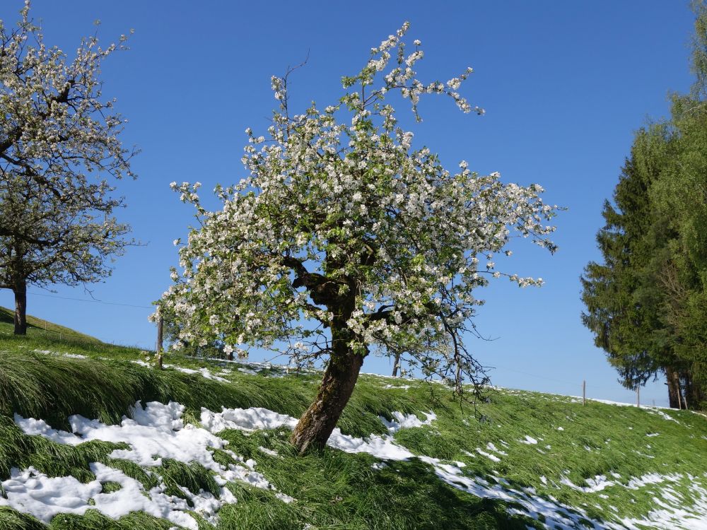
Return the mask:
<svg viewBox="0 0 707 530">
<path fill-rule="evenodd" d="M 238 463 L 223 466 L 214 461 L 211 449 L 224 449 L 228 442 L 204 428 L 184 425 L 183 411 L 184 406 L 174 402 L 167 405 L 151 402 L 145 408 L 138 402 L 134 406 L 133 418 L 124 417 L 120 425 L 105 425 L 83 416 L 71 416 L 69 424 L 73 433 L 52 429 L 43 420 L 22 418 L 17 414 L 15 421 L 25 434 L 40 435 L 60 444 L 76 445 L 89 440 L 127 444 L 128 449 L 115 449 L 109 457 L 133 461 L 146 468 L 159 466 L 165 458 L 201 464 L 214 473 L 216 483 L 221 486 L 219 498 L 203 491 L 193 493 L 185 488 L 182 491 L 192 501 L 193 511 L 212 524 L 218 520 L 216 513 L 223 504 L 235 502 L 233 494 L 224 487 L 227 483 L 240 481 L 276 491 L 261 473 L 255 471 L 256 463 L 252 459 L 244 461 L 243 457 L 226 449 Z M 124 476 L 122 471 L 97 462 L 90 467 L 96 474 L 96 481 L 80 486 L 73 477 L 49 478 L 31 468 L 13 469 L 11 478 L 1 484 L 7 499 L 0 498 L 0 505 L 10 505 L 43 521 L 57 513 L 83 514 L 90 507 L 114 518 L 144 510 L 179 526 L 198 529 L 196 519 L 187 514 L 190 510 L 187 502 L 180 497 L 165 495 L 163 484 L 146 492 L 139 482 Z M 120 483 L 122 488 L 112 493 L 100 493 L 101 483 L 109 481 Z M 284 502 L 293 500 L 286 495 L 277 496 Z"/>
</svg>

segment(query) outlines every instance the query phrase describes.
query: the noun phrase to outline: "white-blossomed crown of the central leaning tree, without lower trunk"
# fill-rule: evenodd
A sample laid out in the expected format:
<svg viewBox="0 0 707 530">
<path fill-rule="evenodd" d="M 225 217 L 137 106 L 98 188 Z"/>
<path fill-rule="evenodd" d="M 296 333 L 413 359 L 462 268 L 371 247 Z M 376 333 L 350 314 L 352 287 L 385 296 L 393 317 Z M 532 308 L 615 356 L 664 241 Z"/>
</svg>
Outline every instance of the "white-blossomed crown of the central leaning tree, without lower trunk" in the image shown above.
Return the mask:
<svg viewBox="0 0 707 530">
<path fill-rule="evenodd" d="M 554 227 L 544 221 L 557 207 L 543 204 L 537 184 L 503 184 L 463 161 L 452 172 L 428 148 L 412 148 L 412 133 L 385 101 L 390 93 L 409 100 L 418 119 L 423 94 L 483 111 L 457 92 L 470 68 L 446 83 L 416 78 L 423 52 L 417 40 L 406 52 L 407 28 L 373 48 L 323 111 L 312 103 L 291 115 L 288 76 L 273 77 L 279 110 L 267 139 L 246 130 L 247 177 L 216 188 L 220 211 L 201 206 L 198 183 L 172 184 L 196 206 L 200 225 L 158 302 L 158 312 L 180 322 L 182 342 L 216 341 L 241 355 L 247 346 L 279 348 L 303 363 L 332 353 L 327 329 L 345 328 L 363 355 L 370 347 L 404 351 L 428 374 L 477 372 L 460 340 L 482 303 L 472 291 L 502 275 L 493 254 L 512 229 L 554 251 Z"/>
</svg>

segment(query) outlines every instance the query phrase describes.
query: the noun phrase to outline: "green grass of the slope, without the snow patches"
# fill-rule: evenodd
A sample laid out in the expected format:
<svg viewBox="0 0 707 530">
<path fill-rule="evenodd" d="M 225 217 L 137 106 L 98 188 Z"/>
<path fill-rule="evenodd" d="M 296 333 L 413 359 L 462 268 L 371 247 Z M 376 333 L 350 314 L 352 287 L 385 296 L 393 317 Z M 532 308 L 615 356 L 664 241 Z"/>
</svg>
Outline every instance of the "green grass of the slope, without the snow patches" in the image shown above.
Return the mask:
<svg viewBox="0 0 707 530">
<path fill-rule="evenodd" d="M 297 417 L 316 389 L 316 375 L 274 378 L 264 377 L 267 372 L 249 375 L 233 370 L 226 376 L 228 383 L 216 382 L 201 375 L 130 363 L 144 359 L 145 353 L 134 348 L 81 337 L 59 340 L 38 329 L 30 330 L 27 338 L 15 338 L 5 333 L 6 328 L 8 324 L 0 323 L 0 481 L 8 478 L 11 467 L 28 466 L 49 476 L 73 475 L 90 481 L 94 477 L 88 464 L 95 461 L 122 469 L 148 488 L 155 480 L 139 466 L 110 459 L 107 455 L 115 444 L 87 442 L 71 447 L 24 435 L 13 422 L 13 413 L 43 418 L 62 429 L 68 428 L 68 416 L 76 413 L 117 423 L 137 400 L 178 401 L 187 407 L 185 418 L 192 423 L 197 423 L 202 406 L 214 411 L 222 406 L 261 406 Z M 208 364 L 174 358 L 170 362 L 185 367 Z M 218 370 L 216 363 L 211 364 Z M 397 442 L 415 454 L 462 461 L 468 476 L 484 476 L 492 482 L 500 480 L 494 479 L 498 476 L 508 481 L 509 488 L 534 488 L 537 496 L 583 508 L 595 521 L 611 519 L 614 513 L 645 516 L 655 508 L 656 490 L 614 486 L 600 493 L 584 493 L 561 483 L 561 478 L 585 485 L 585 478 L 614 472 L 621 475 L 618 482 L 626 484 L 629 478 L 648 473 L 689 473 L 694 481 L 707 484 L 707 464 L 702 457 L 707 450 L 707 420 L 694 413 L 667 411 L 676 422 L 632 407 L 595 402 L 582 406 L 562 396 L 493 391 L 490 402 L 479 405 L 478 413 L 484 416 L 479 422 L 471 408 L 460 408 L 441 387 L 435 387 L 432 395 L 430 387 L 419 382 L 407 383 L 409 389 L 387 389 L 388 383 L 390 379 L 361 377 L 339 424 L 344 433 L 358 437 L 383 434 L 385 428 L 378 416 L 390 418 L 392 411 L 433 409 L 438 419 L 431 426 L 400 430 L 395 435 Z M 659 435 L 647 437 L 655 432 Z M 539 444 L 521 443 L 526 435 Z M 544 528 L 542 521 L 522 514 L 522 509 L 511 515 L 506 502 L 475 497 L 440 481 L 431 466 L 417 459 L 394 462 L 377 471 L 371 466 L 378 459 L 369 454 L 327 448 L 322 454 L 296 457 L 287 444 L 286 430 L 253 435 L 227 430 L 219 436 L 230 442 L 235 453 L 257 460 L 258 471 L 296 502 L 285 504 L 270 491 L 233 483 L 230 489 L 238 503 L 223 507 L 218 528 L 302 529 L 307 524 L 317 529 Z M 477 448 L 489 452 L 489 443 L 507 453 L 501 461 L 477 452 Z M 279 457 L 265 454 L 259 447 L 275 449 Z M 195 492 L 214 488 L 209 473 L 200 466 L 165 461 L 157 471 L 176 494 L 177 485 Z M 547 478 L 547 483 L 541 477 Z M 686 505 L 691 500 L 689 482 L 673 485 Z M 83 517 L 59 515 L 51 526 L 166 530 L 171 524 L 137 513 L 115 522 L 89 511 Z M 35 527 L 44 526 L 0 508 L 0 530 Z"/>
</svg>

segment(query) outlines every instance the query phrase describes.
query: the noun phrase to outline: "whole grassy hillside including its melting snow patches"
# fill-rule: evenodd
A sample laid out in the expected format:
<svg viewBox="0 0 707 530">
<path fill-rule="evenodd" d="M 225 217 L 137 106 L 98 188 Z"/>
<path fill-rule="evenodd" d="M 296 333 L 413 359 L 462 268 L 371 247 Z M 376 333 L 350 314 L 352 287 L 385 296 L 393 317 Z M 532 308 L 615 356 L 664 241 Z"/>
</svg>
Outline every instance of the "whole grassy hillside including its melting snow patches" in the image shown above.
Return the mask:
<svg viewBox="0 0 707 530">
<path fill-rule="evenodd" d="M 0 326 L 5 324 L 0 324 Z M 4 329 L 0 330 L 4 331 Z M 0 334 L 0 529 L 707 528 L 707 419 L 363 375 L 321 454 L 317 374 Z"/>
</svg>

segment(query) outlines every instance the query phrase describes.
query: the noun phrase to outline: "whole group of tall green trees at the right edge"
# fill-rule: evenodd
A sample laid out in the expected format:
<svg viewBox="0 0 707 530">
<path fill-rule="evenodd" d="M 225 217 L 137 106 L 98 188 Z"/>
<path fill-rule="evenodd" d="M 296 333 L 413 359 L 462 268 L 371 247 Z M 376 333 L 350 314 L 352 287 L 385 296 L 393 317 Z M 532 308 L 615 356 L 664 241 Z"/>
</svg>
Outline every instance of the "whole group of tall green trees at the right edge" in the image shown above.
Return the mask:
<svg viewBox="0 0 707 530">
<path fill-rule="evenodd" d="M 693 7 L 694 86 L 636 133 L 604 203 L 604 263 L 581 278 L 583 323 L 621 382 L 665 375 L 674 408 L 707 406 L 707 4 Z"/>
</svg>

